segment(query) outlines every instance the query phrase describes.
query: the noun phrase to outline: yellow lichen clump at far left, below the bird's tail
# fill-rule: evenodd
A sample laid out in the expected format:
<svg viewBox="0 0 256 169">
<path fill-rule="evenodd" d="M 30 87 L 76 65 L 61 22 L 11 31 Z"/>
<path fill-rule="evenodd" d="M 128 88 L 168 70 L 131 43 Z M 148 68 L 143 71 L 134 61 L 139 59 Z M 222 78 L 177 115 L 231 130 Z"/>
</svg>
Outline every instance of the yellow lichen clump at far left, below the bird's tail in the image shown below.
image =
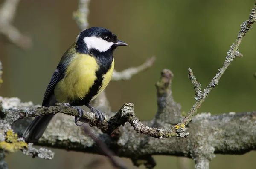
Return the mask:
<svg viewBox="0 0 256 169">
<path fill-rule="evenodd" d="M 12 130 L 6 132 L 6 140 L 0 142 L 0 149 L 4 149 L 6 152 L 15 152 L 19 149 L 27 147 L 27 143 L 17 140 L 17 133 L 13 133 Z"/>
</svg>

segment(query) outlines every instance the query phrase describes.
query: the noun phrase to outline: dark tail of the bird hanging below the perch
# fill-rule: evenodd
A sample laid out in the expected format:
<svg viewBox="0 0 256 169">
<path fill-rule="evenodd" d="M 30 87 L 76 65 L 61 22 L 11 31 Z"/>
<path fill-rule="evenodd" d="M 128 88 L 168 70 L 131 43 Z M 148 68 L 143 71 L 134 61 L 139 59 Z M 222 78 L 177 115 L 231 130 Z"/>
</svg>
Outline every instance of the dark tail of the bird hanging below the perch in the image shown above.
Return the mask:
<svg viewBox="0 0 256 169">
<path fill-rule="evenodd" d="M 23 137 L 26 141 L 36 142 L 43 135 L 45 129 L 47 128 L 49 122 L 51 121 L 54 115 L 45 115 L 40 117 L 35 117 L 32 123 L 26 128 L 23 133 Z"/>
</svg>

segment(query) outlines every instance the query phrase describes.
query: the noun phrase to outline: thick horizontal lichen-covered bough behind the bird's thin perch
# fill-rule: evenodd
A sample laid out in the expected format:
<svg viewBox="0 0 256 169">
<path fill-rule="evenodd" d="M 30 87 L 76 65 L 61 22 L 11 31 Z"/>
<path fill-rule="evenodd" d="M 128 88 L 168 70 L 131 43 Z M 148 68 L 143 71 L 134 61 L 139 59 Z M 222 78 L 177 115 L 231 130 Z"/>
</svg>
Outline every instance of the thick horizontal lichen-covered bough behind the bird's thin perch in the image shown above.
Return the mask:
<svg viewBox="0 0 256 169">
<path fill-rule="evenodd" d="M 187 127 L 189 137 L 157 139 L 134 132 L 130 125 L 119 127 L 121 134 L 116 140 L 93 129 L 95 135 L 117 153 L 118 156 L 135 158 L 147 155 L 175 155 L 195 160 L 211 160 L 214 154 L 244 154 L 256 149 L 256 112 L 224 115 L 198 114 Z M 13 128 L 21 134 L 25 126 L 17 121 Z M 151 121 L 142 121 L 150 125 Z M 61 127 L 59 127 L 61 125 Z M 170 124 L 162 124 L 169 128 Z M 57 115 L 37 143 L 59 149 L 102 154 L 82 128 L 73 123 L 70 116 Z"/>
</svg>

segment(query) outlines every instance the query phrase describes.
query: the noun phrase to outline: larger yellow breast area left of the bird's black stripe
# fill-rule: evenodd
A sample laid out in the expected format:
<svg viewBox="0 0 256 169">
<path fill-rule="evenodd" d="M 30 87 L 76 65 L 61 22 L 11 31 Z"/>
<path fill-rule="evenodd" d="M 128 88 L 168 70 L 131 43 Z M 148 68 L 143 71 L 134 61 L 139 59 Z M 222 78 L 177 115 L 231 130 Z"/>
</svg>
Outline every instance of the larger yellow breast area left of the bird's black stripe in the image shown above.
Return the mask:
<svg viewBox="0 0 256 169">
<path fill-rule="evenodd" d="M 70 103 L 83 99 L 96 80 L 99 66 L 94 57 L 79 54 L 72 58 L 65 77 L 56 85 L 54 95 L 59 102 Z"/>
</svg>

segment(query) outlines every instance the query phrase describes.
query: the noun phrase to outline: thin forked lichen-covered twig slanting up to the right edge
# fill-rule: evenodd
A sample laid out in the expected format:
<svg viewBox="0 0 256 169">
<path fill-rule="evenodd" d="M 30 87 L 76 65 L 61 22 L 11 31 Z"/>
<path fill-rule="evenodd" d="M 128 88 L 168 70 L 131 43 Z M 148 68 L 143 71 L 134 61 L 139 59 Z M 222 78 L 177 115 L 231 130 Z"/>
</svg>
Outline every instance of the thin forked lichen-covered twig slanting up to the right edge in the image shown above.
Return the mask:
<svg viewBox="0 0 256 169">
<path fill-rule="evenodd" d="M 218 82 L 221 78 L 221 76 L 224 74 L 230 63 L 238 56 L 242 57 L 243 55 L 239 52 L 239 45 L 243 39 L 243 37 L 247 34 L 247 32 L 251 29 L 253 23 L 256 21 L 256 4 L 254 5 L 252 12 L 250 13 L 249 20 L 245 21 L 241 25 L 241 30 L 239 31 L 236 39 L 236 43 L 233 43 L 232 46 L 230 46 L 230 50 L 227 52 L 227 56 L 225 59 L 225 62 L 223 66 L 218 69 L 218 73 L 213 77 L 213 79 L 210 81 L 207 88 L 204 89 L 204 92 L 201 90 L 201 84 L 198 83 L 193 75 L 192 70 L 189 68 L 189 79 L 192 80 L 192 83 L 194 85 L 194 89 L 196 92 L 195 97 L 195 104 L 192 106 L 192 109 L 189 111 L 188 115 L 184 118 L 184 120 L 181 122 L 183 125 L 187 125 L 197 112 L 197 110 L 200 108 L 201 104 L 204 102 L 206 97 L 209 95 L 209 93 L 212 91 L 212 89 L 218 85 Z"/>
</svg>

